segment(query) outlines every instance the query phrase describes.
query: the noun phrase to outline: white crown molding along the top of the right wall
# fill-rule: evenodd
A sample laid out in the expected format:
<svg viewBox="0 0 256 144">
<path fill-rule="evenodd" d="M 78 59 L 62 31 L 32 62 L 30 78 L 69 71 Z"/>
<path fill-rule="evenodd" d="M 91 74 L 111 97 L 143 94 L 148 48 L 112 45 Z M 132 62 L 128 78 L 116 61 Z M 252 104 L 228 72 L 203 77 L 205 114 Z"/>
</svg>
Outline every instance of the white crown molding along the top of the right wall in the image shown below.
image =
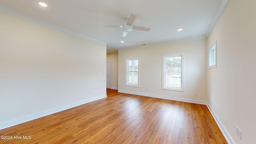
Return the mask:
<svg viewBox="0 0 256 144">
<path fill-rule="evenodd" d="M 220 15 L 222 14 L 222 12 L 224 11 L 224 9 L 226 8 L 226 5 L 228 4 L 229 0 L 223 0 L 222 3 L 220 4 L 220 7 L 217 11 L 217 13 L 215 14 L 210 27 L 208 28 L 205 36 L 208 38 L 208 36 L 210 35 L 210 33 L 212 32 L 212 29 L 214 28 L 215 24 L 217 23 L 218 19 L 220 18 Z"/>
</svg>

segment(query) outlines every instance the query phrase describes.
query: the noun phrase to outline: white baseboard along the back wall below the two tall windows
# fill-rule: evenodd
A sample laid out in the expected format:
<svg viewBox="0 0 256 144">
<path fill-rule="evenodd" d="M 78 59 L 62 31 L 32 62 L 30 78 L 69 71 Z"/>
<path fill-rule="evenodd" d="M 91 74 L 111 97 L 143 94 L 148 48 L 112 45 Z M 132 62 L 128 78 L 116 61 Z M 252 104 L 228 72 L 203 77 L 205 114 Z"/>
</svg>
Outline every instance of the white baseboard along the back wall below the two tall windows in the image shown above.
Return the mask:
<svg viewBox="0 0 256 144">
<path fill-rule="evenodd" d="M 176 101 L 181 101 L 181 102 L 190 102 L 190 103 L 195 103 L 195 104 L 204 104 L 206 105 L 207 102 L 204 100 L 193 100 L 193 99 L 188 99 L 188 98 L 177 98 L 173 96 L 162 96 L 162 95 L 157 95 L 157 94 L 147 94 L 147 93 L 141 93 L 141 92 L 130 92 L 126 90 L 118 90 L 118 92 L 121 93 L 126 93 L 126 94 L 136 94 L 140 96 L 148 96 L 148 97 L 153 97 L 153 98 L 162 98 L 166 100 L 176 100 Z"/>
</svg>

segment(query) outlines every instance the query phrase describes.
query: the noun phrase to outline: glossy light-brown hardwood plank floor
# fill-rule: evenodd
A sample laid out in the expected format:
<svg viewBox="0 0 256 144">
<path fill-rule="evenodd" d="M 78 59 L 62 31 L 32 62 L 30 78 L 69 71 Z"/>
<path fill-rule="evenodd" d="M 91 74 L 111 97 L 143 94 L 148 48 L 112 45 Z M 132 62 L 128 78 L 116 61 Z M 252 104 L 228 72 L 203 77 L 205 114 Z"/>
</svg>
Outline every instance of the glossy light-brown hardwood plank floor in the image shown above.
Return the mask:
<svg viewBox="0 0 256 144">
<path fill-rule="evenodd" d="M 205 105 L 110 89 L 107 96 L 0 130 L 12 136 L 0 144 L 228 144 Z"/>
</svg>

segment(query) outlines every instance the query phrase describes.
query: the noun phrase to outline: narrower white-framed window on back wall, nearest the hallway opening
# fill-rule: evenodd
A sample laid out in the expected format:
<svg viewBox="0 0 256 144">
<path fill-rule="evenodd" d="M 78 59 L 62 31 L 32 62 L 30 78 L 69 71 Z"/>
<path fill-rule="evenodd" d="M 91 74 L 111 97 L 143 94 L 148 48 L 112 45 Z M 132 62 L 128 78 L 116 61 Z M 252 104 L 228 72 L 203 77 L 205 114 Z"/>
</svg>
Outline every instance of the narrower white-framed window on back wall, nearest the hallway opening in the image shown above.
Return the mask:
<svg viewBox="0 0 256 144">
<path fill-rule="evenodd" d="M 139 60 L 126 60 L 126 86 L 139 86 Z"/>
</svg>

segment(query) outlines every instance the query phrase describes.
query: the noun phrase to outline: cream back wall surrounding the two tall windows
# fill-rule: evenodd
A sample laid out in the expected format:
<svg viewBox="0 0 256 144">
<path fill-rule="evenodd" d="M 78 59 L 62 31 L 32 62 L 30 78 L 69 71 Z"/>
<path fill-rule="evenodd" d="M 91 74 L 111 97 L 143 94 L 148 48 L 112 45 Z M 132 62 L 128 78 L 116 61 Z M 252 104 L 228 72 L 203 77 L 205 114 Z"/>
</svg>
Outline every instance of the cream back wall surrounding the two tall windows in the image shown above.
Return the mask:
<svg viewBox="0 0 256 144">
<path fill-rule="evenodd" d="M 181 53 L 185 57 L 185 91 L 162 90 L 162 55 Z M 139 58 L 140 87 L 125 86 L 128 58 Z M 118 72 L 120 91 L 206 100 L 206 39 L 119 51 Z"/>
</svg>

